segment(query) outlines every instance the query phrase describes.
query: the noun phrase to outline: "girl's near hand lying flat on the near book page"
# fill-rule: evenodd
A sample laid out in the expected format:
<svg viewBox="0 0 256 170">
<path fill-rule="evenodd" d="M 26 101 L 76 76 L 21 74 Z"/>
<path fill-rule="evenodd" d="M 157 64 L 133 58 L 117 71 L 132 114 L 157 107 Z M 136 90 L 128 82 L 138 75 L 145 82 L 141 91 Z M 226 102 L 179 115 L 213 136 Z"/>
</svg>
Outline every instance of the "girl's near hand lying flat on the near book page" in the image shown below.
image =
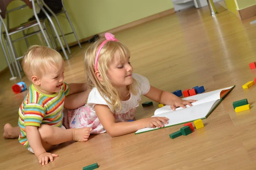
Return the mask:
<svg viewBox="0 0 256 170">
<path fill-rule="evenodd" d="M 164 127 L 163 123 L 168 124 L 167 120 L 169 120 L 167 117 L 150 117 L 146 119 L 141 119 L 144 127 L 148 127 L 148 128 Z"/>
</svg>

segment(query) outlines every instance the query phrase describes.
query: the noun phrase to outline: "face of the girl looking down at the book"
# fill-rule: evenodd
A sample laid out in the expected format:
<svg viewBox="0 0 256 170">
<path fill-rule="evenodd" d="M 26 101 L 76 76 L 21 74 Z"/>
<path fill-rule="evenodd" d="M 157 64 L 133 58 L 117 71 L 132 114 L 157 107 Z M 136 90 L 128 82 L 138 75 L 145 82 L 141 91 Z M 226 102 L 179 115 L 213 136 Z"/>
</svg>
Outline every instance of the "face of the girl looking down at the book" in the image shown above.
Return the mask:
<svg viewBox="0 0 256 170">
<path fill-rule="evenodd" d="M 125 62 L 119 60 L 119 56 L 115 55 L 113 61 L 108 68 L 108 78 L 117 88 L 126 87 L 133 82 L 133 68 L 130 63 L 130 57 Z"/>
</svg>

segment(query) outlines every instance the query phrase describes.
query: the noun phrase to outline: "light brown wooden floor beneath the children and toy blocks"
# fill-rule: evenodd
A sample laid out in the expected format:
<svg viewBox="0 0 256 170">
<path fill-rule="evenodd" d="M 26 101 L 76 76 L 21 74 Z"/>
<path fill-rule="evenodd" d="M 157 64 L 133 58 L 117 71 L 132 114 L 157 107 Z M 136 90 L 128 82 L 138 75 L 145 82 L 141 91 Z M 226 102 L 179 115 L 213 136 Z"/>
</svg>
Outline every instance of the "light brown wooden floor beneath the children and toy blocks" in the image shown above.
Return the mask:
<svg viewBox="0 0 256 170">
<path fill-rule="evenodd" d="M 99 170 L 255 170 L 256 85 L 247 90 L 241 87 L 256 77 L 256 71 L 249 68 L 256 61 L 252 20 L 241 22 L 226 10 L 213 18 L 208 7 L 190 8 L 116 33 L 131 50 L 134 72 L 148 77 L 157 88 L 175 91 L 204 85 L 206 91 L 212 91 L 236 85 L 204 119 L 204 128 L 176 139 L 169 134 L 182 125 L 116 138 L 107 133 L 92 135 L 88 142 L 61 144 L 52 151 L 59 157 L 44 166 L 17 139 L 0 139 L 0 169 L 82 170 L 97 162 Z M 84 82 L 83 50 L 74 47 L 72 54 L 65 61 L 65 81 Z M 18 108 L 26 95 L 13 94 L 15 82 L 9 78 L 10 74 L 0 77 L 1 134 L 6 122 L 17 125 Z M 235 113 L 232 103 L 244 98 L 252 108 Z M 145 101 L 148 99 L 143 97 Z M 152 116 L 155 109 L 156 102 L 148 108 L 139 106 L 136 119 Z"/>
</svg>

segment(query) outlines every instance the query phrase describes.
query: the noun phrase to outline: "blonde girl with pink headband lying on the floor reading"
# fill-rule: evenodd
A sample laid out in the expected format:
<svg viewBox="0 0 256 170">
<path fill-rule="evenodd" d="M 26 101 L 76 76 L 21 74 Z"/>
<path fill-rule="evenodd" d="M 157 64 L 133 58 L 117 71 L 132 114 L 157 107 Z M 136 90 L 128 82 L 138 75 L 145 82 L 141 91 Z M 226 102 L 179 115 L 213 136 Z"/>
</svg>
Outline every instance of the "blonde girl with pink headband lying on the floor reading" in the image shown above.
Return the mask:
<svg viewBox="0 0 256 170">
<path fill-rule="evenodd" d="M 84 69 L 88 88 L 92 91 L 86 105 L 64 111 L 66 128 L 91 127 L 91 134 L 107 132 L 112 137 L 121 136 L 144 127 L 163 127 L 163 123 L 167 124 L 166 117 L 128 122 L 134 119 L 141 95 L 171 105 L 173 110 L 192 106 L 191 102 L 195 102 L 154 88 L 147 78 L 133 74 L 128 48 L 110 33 L 87 49 Z"/>
</svg>

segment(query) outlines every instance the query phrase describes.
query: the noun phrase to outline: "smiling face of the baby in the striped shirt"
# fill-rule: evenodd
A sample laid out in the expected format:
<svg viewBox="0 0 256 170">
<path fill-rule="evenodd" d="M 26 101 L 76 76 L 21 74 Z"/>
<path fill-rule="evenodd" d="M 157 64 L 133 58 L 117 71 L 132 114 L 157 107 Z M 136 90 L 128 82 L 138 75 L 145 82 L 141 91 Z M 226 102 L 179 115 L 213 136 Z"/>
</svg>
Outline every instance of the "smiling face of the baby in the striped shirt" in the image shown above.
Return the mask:
<svg viewBox="0 0 256 170">
<path fill-rule="evenodd" d="M 44 94 L 55 94 L 60 91 L 64 80 L 64 70 L 64 61 L 59 70 L 49 66 L 46 74 L 39 79 L 40 85 L 37 86 L 38 90 Z"/>
</svg>

